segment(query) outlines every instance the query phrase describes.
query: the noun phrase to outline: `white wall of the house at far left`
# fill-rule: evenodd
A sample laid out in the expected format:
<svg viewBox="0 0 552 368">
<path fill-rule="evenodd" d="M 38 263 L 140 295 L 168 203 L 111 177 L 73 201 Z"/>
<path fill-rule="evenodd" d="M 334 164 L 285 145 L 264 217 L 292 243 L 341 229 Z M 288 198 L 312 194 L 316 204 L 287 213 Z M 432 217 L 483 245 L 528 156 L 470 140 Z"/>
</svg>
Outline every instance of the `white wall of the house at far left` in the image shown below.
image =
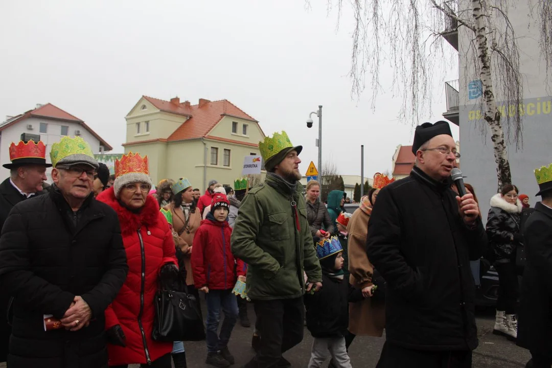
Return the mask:
<svg viewBox="0 0 552 368">
<path fill-rule="evenodd" d="M 40 123 L 44 122 L 47 124 L 46 134 L 40 133 Z M 33 129 L 27 129 L 27 125 L 32 125 Z M 50 148 L 53 143 L 59 142 L 61 140 L 61 126 L 68 126 L 68 135 L 71 137 L 75 136 L 75 130 L 81 132 L 81 137 L 88 142 L 92 148 L 94 154 L 100 153 L 100 142 L 95 138 L 88 130 L 84 129 L 82 125 L 79 125 L 77 122 L 68 122 L 60 120 L 51 120 L 51 119 L 40 119 L 40 118 L 28 118 L 21 121 L 18 121 L 16 124 L 7 127 L 2 131 L 2 139 L 0 140 L 0 165 L 9 163 L 9 146 L 14 142 L 16 145 L 21 140 L 21 135 L 23 133 L 29 134 L 40 134 L 40 140 L 46 145 L 46 162 L 50 163 Z M 48 177 L 48 182 L 51 183 L 51 168 L 46 169 L 46 175 Z M 0 179 L 4 180 L 9 176 L 9 169 L 0 166 Z"/>
</svg>

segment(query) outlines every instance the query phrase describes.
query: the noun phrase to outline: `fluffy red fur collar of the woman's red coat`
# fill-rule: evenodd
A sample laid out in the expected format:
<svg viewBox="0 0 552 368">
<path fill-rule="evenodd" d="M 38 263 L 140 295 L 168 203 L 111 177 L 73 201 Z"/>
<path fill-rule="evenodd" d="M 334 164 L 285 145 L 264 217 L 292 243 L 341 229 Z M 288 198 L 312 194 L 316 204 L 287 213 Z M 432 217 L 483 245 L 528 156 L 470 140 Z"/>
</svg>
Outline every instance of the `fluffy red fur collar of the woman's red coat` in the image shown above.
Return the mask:
<svg viewBox="0 0 552 368">
<path fill-rule="evenodd" d="M 159 204 L 153 196 L 146 197 L 146 204 L 140 212 L 134 213 L 123 207 L 115 198 L 113 186 L 108 190 L 104 190 L 96 198 L 100 202 L 104 202 L 117 212 L 121 225 L 121 233 L 129 235 L 140 227 L 155 227 L 159 220 Z"/>
</svg>

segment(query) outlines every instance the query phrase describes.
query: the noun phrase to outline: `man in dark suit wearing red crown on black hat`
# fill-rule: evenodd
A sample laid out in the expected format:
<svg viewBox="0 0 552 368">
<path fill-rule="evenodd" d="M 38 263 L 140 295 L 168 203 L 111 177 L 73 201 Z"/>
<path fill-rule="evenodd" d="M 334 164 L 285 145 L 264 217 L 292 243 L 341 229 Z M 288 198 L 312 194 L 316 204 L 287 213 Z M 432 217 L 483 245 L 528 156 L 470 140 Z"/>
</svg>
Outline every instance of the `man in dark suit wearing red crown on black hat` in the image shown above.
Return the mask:
<svg viewBox="0 0 552 368">
<path fill-rule="evenodd" d="M 43 194 L 46 180 L 46 146 L 43 142 L 20 141 L 9 146 L 11 163 L 3 166 L 10 170 L 9 178 L 0 184 L 0 230 L 13 206 L 27 198 Z M 0 288 L 0 290 L 5 290 Z M 6 361 L 9 335 L 12 333 L 6 318 L 9 296 L 0 291 L 0 362 Z"/>
</svg>

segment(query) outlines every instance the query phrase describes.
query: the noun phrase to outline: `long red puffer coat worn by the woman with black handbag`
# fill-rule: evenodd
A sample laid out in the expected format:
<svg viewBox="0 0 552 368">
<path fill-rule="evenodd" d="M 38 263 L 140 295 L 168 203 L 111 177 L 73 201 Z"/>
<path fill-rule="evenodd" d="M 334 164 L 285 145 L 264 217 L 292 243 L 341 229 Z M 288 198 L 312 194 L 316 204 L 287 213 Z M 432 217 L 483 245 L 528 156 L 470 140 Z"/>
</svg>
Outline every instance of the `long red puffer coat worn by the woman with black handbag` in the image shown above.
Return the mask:
<svg viewBox="0 0 552 368">
<path fill-rule="evenodd" d="M 139 214 L 121 206 L 113 188 L 103 191 L 97 199 L 111 206 L 119 216 L 129 264 L 123 287 L 105 311 L 105 329 L 120 324 L 126 337 L 126 348 L 108 344 L 109 365 L 147 364 L 148 359 L 154 361 L 171 353 L 173 346 L 151 339 L 159 269 L 165 263 L 178 264 L 172 233 L 151 195 L 147 196 Z M 144 295 L 143 303 L 141 295 Z"/>
</svg>

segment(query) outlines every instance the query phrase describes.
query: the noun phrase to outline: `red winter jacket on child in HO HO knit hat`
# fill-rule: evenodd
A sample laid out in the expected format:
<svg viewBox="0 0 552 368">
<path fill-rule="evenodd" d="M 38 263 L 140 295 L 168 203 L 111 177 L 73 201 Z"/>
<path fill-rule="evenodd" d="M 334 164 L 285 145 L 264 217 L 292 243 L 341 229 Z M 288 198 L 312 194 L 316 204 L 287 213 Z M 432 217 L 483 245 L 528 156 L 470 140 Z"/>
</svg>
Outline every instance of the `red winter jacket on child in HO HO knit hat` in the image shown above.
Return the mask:
<svg viewBox="0 0 552 368">
<path fill-rule="evenodd" d="M 230 250 L 232 228 L 228 221 L 216 221 L 210 213 L 195 232 L 192 270 L 197 289 L 203 286 L 213 290 L 233 289 L 237 276 L 245 276 L 241 259 Z M 237 275 L 236 275 L 237 273 Z"/>
</svg>

